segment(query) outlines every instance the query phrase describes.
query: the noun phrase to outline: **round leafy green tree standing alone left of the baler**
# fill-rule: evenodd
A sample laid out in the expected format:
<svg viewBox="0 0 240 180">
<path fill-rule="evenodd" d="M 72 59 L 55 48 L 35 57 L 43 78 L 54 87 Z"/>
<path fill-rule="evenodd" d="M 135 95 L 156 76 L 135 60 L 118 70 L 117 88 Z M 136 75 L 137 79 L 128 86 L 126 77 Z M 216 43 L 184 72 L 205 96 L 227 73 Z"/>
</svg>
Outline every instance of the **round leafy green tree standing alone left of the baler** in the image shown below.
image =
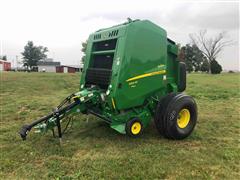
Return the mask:
<svg viewBox="0 0 240 180">
<path fill-rule="evenodd" d="M 28 41 L 27 45 L 24 46 L 24 51 L 21 53 L 24 66 L 32 69 L 33 66 L 37 65 L 39 60 L 47 58 L 47 52 L 47 47 L 34 46 L 32 41 Z"/>
</svg>

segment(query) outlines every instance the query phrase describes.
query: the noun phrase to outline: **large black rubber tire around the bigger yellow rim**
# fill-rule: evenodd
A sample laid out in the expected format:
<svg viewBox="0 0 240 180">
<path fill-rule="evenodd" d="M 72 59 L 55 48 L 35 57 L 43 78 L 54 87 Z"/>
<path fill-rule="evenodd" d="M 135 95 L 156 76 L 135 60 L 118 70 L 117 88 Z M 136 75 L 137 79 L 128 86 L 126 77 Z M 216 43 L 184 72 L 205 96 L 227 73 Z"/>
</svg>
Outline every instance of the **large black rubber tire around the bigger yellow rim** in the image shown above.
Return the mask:
<svg viewBox="0 0 240 180">
<path fill-rule="evenodd" d="M 178 114 L 182 109 L 190 112 L 190 121 L 185 128 L 180 128 L 177 124 Z M 162 136 L 168 139 L 184 139 L 192 133 L 197 122 L 196 102 L 191 96 L 171 93 L 159 102 L 154 121 Z"/>
</svg>

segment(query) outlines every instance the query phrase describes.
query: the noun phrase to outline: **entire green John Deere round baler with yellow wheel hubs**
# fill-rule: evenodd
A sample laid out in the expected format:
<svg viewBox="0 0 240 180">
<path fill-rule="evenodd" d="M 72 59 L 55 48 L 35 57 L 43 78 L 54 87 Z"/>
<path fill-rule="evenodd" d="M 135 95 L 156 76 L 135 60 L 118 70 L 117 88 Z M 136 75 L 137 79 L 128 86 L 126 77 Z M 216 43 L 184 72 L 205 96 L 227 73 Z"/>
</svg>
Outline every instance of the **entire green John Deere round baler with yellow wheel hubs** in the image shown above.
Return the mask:
<svg viewBox="0 0 240 180">
<path fill-rule="evenodd" d="M 197 107 L 186 88 L 185 64 L 161 27 L 148 20 L 100 29 L 89 36 L 80 90 L 53 112 L 24 125 L 40 132 L 58 128 L 69 114 L 93 114 L 122 134 L 138 136 L 154 119 L 159 133 L 183 139 L 194 129 Z"/>
</svg>

